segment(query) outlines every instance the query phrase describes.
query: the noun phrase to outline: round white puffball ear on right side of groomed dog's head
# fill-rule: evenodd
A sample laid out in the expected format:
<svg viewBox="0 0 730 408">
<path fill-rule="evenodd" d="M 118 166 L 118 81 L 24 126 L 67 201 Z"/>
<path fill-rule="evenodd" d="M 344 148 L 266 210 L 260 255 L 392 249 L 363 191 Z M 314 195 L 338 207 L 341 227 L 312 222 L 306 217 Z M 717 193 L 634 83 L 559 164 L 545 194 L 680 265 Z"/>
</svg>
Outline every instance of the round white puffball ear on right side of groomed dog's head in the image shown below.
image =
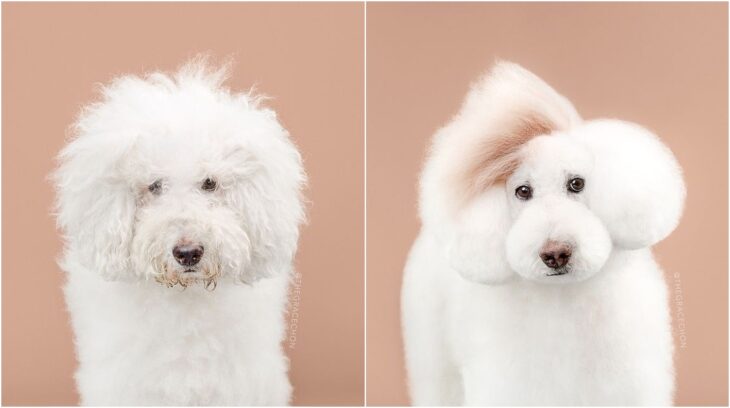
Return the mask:
<svg viewBox="0 0 730 408">
<path fill-rule="evenodd" d="M 654 245 L 679 223 L 686 190 L 671 150 L 648 130 L 618 120 L 586 123 L 576 135 L 594 154 L 586 180 L 589 208 L 615 245 Z"/>
</svg>

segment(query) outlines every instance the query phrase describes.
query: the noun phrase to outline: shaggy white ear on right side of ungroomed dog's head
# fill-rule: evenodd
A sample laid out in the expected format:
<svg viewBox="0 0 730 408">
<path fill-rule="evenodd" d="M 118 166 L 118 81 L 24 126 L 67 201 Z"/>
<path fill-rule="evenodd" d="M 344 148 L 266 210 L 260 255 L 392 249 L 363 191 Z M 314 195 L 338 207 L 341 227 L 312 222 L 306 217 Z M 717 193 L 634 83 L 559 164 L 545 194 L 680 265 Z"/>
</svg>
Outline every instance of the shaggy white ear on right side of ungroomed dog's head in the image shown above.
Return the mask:
<svg viewBox="0 0 730 408">
<path fill-rule="evenodd" d="M 230 156 L 231 167 L 246 169 L 246 174 L 227 193 L 251 246 L 249 262 L 238 277 L 245 283 L 292 270 L 305 221 L 302 189 L 307 181 L 301 156 L 275 113 L 249 113 L 256 125 L 244 126 L 235 142 L 238 154 Z"/>
</svg>

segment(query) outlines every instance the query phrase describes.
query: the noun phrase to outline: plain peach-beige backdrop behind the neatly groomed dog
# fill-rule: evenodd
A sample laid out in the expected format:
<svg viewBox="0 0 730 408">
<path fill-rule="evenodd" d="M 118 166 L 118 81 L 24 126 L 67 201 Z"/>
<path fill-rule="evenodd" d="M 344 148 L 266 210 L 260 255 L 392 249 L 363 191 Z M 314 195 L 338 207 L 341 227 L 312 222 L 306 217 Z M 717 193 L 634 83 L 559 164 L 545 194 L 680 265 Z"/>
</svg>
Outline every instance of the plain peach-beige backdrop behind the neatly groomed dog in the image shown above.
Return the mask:
<svg viewBox="0 0 730 408">
<path fill-rule="evenodd" d="M 426 143 L 500 57 L 536 72 L 584 117 L 641 123 L 674 150 L 689 198 L 656 254 L 671 284 L 680 273 L 684 297 L 676 402 L 727 405 L 727 5 L 369 3 L 367 11 L 368 403 L 408 401 L 399 291 L 419 228 Z"/>
</svg>

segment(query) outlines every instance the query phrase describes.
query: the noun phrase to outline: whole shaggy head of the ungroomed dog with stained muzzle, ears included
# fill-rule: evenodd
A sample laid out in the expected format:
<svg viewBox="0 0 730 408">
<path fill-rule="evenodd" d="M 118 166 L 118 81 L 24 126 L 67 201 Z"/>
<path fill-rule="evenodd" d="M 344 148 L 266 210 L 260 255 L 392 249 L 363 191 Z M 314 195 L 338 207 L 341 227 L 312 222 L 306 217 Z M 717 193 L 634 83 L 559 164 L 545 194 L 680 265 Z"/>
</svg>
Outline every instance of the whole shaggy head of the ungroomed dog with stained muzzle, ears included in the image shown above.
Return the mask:
<svg viewBox="0 0 730 408">
<path fill-rule="evenodd" d="M 301 159 L 275 113 L 226 78 L 197 59 L 118 78 L 83 110 L 53 176 L 66 262 L 169 286 L 289 270 Z"/>
</svg>

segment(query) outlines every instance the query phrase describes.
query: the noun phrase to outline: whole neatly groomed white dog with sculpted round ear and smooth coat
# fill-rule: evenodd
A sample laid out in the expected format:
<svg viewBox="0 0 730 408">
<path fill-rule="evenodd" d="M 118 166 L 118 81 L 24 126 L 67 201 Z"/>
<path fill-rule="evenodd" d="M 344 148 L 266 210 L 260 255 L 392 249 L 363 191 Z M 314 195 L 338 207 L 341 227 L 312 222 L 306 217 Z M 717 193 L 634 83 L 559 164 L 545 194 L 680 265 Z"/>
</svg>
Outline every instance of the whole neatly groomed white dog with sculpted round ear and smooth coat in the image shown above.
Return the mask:
<svg viewBox="0 0 730 408">
<path fill-rule="evenodd" d="M 582 121 L 499 63 L 441 129 L 402 321 L 418 405 L 669 405 L 668 295 L 650 247 L 685 187 L 646 129 Z"/>
</svg>

